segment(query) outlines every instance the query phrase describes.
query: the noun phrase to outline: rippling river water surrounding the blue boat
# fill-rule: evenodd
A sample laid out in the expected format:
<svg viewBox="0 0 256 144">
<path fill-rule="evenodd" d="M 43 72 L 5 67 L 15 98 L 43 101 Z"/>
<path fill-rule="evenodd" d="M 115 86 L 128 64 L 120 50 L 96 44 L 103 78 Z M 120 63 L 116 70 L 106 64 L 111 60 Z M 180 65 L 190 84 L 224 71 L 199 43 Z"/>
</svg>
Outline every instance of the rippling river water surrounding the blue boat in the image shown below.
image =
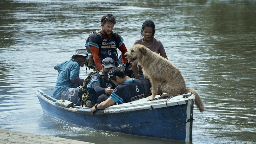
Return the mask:
<svg viewBox="0 0 256 144">
<path fill-rule="evenodd" d="M 153 20 L 168 59 L 201 95 L 193 144 L 256 141 L 255 1 L 1 0 L 0 8 L 0 128 L 97 144 L 185 143 L 86 129 L 43 113 L 35 91 L 55 86 L 53 66 L 84 48 L 112 13 L 127 49 Z M 81 68 L 81 77 L 88 72 Z"/>
</svg>

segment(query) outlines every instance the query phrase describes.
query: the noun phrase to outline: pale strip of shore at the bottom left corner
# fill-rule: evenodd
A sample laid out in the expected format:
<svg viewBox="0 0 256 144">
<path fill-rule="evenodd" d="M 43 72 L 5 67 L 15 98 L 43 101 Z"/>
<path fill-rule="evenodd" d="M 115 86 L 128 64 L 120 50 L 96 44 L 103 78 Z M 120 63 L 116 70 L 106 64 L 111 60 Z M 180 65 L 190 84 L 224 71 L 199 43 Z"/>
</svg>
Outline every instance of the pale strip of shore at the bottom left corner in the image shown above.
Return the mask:
<svg viewBox="0 0 256 144">
<path fill-rule="evenodd" d="M 34 133 L 20 132 L 0 128 L 0 143 L 33 143 L 33 144 L 92 144 L 89 142 L 64 139 Z"/>
</svg>

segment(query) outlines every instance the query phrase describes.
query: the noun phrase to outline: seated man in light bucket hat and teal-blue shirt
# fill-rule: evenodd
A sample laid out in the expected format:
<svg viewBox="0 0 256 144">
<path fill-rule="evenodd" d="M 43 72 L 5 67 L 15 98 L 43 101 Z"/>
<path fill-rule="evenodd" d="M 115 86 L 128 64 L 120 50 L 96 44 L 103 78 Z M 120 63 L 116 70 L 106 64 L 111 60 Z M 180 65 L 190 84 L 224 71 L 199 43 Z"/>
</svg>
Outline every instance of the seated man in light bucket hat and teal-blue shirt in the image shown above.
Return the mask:
<svg viewBox="0 0 256 144">
<path fill-rule="evenodd" d="M 86 49 L 77 49 L 70 60 L 54 66 L 58 70 L 58 78 L 53 92 L 53 97 L 60 100 L 71 101 L 76 106 L 80 105 L 79 95 L 82 95 L 79 85 L 83 85 L 84 79 L 79 78 L 80 67 L 84 67 L 86 61 Z"/>
</svg>

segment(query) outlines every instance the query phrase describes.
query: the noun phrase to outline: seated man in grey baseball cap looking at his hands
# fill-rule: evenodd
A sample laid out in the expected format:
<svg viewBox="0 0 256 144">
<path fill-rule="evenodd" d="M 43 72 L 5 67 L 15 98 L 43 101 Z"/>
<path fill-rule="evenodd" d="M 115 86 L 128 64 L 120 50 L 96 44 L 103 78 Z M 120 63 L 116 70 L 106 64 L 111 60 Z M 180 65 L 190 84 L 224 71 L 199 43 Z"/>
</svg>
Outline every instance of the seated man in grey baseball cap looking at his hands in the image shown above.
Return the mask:
<svg viewBox="0 0 256 144">
<path fill-rule="evenodd" d="M 111 95 L 116 86 L 108 79 L 108 72 L 110 69 L 116 67 L 115 64 L 116 62 L 109 57 L 102 60 L 102 69 L 92 75 L 92 78 L 87 85 L 89 97 L 85 102 L 86 107 L 93 107 L 98 103 L 98 97 L 100 95 Z"/>
</svg>

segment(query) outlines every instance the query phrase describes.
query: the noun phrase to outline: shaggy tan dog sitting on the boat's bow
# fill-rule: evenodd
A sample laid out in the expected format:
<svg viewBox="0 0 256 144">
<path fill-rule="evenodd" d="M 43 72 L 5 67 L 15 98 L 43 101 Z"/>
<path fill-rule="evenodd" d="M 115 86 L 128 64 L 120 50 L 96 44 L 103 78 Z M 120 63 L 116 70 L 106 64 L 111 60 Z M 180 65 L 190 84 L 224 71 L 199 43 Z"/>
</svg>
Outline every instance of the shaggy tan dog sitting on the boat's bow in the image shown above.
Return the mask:
<svg viewBox="0 0 256 144">
<path fill-rule="evenodd" d="M 204 111 L 204 103 L 199 94 L 194 89 L 186 88 L 179 68 L 174 66 L 169 60 L 164 59 L 156 52 L 152 52 L 141 44 L 133 45 L 124 56 L 132 64 L 139 62 L 142 66 L 143 75 L 150 80 L 152 95 L 148 97 L 148 101 L 155 99 L 157 87 L 160 84 L 162 91 L 166 93 L 161 97 L 170 97 L 191 92 L 195 95 L 195 103 L 200 112 Z"/>
</svg>

